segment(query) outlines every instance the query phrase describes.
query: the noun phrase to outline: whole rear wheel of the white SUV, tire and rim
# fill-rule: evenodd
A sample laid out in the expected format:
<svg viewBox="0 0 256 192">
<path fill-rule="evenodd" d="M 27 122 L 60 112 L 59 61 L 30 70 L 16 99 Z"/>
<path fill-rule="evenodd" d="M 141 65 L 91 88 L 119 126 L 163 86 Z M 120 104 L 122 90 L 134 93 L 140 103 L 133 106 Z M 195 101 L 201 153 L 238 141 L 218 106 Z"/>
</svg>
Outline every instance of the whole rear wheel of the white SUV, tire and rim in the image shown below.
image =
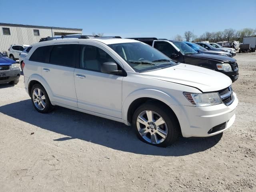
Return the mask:
<svg viewBox="0 0 256 192">
<path fill-rule="evenodd" d="M 35 84 L 31 89 L 31 100 L 34 108 L 40 113 L 48 113 L 52 109 L 52 104 L 43 86 Z"/>
</svg>

